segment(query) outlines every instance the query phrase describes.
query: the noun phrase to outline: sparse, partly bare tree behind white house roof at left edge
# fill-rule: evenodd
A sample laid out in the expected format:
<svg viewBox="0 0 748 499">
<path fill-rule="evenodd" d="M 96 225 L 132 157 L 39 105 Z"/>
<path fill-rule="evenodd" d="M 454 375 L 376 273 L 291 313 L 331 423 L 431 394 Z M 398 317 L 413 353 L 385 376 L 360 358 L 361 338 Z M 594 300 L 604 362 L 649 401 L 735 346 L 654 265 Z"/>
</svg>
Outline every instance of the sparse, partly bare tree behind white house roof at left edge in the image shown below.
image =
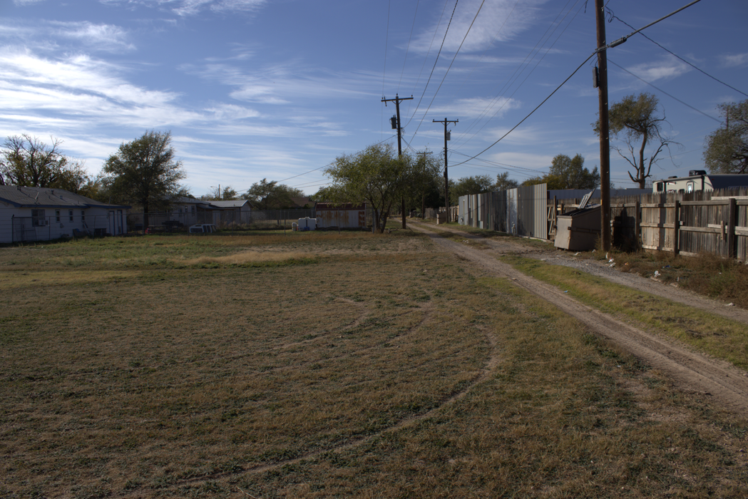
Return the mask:
<svg viewBox="0 0 748 499">
<path fill-rule="evenodd" d="M 86 195 L 93 185 L 82 162 L 60 152 L 62 141 L 47 145 L 31 135 L 8 137 L 0 150 L 0 185 L 49 187 Z M 82 192 L 85 191 L 85 192 Z"/>
</svg>

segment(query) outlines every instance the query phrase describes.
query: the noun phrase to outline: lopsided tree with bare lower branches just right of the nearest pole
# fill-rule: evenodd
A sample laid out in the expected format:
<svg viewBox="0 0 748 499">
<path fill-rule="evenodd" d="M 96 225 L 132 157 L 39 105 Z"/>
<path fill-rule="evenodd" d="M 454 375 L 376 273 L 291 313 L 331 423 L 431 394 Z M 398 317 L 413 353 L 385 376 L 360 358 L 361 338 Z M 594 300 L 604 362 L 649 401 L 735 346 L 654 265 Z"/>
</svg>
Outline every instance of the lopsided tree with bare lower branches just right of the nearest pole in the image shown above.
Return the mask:
<svg viewBox="0 0 748 499">
<path fill-rule="evenodd" d="M 652 165 L 658 161 L 657 156 L 664 149 L 669 149 L 671 144 L 677 144 L 663 135 L 662 124 L 665 122 L 665 116 L 663 113 L 660 117 L 659 104 L 657 97 L 645 92 L 638 96 L 624 97 L 621 102 L 611 105 L 608 113 L 610 134 L 625 142 L 626 151 L 613 144 L 610 147 L 633 167 L 634 174 L 630 171 L 628 177 L 632 182 L 638 183 L 640 189 L 644 189 L 646 180 L 652 177 L 650 172 Z M 592 128 L 600 135 L 599 119 L 592 123 Z M 650 143 L 652 148 L 649 150 L 649 156 L 646 156 Z"/>
</svg>

